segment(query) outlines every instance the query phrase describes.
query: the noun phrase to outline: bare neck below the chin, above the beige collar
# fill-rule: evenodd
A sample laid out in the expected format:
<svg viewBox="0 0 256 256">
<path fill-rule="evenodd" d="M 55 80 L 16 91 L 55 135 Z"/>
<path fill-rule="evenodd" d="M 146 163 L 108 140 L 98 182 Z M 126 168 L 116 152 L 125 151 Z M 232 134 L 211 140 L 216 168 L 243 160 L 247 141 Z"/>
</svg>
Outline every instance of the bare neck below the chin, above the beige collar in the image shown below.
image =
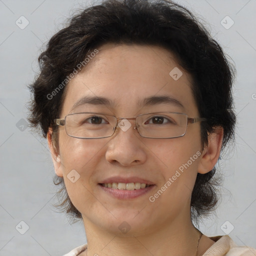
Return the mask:
<svg viewBox="0 0 256 256">
<path fill-rule="evenodd" d="M 170 224 L 151 227 L 151 232 L 120 233 L 108 232 L 95 226 L 88 219 L 84 221 L 87 237 L 87 256 L 139 256 L 169 255 L 196 256 L 196 246 L 201 233 L 193 226 L 191 219 L 177 217 Z"/>
</svg>

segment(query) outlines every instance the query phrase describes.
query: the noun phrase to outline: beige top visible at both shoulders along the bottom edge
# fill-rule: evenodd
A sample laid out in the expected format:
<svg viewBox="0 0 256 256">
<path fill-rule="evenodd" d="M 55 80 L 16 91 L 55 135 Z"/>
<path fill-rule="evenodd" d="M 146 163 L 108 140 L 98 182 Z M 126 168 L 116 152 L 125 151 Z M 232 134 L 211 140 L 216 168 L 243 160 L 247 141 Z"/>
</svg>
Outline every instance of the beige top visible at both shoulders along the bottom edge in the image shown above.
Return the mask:
<svg viewBox="0 0 256 256">
<path fill-rule="evenodd" d="M 202 256 L 256 256 L 256 249 L 248 246 L 237 246 L 228 235 L 209 237 L 215 241 Z M 78 256 L 87 249 L 87 244 L 72 249 L 63 256 Z"/>
</svg>

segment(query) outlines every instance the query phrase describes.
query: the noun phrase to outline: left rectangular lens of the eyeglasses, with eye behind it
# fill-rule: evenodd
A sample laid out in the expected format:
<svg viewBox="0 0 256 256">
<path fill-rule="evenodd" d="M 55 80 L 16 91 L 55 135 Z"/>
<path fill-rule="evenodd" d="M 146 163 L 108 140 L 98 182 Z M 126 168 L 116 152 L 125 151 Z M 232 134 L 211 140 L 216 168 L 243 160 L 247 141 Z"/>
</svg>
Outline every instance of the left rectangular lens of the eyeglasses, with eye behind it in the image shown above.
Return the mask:
<svg viewBox="0 0 256 256">
<path fill-rule="evenodd" d="M 109 137 L 114 132 L 116 118 L 95 112 L 68 114 L 65 129 L 69 136 L 77 138 Z"/>
</svg>

